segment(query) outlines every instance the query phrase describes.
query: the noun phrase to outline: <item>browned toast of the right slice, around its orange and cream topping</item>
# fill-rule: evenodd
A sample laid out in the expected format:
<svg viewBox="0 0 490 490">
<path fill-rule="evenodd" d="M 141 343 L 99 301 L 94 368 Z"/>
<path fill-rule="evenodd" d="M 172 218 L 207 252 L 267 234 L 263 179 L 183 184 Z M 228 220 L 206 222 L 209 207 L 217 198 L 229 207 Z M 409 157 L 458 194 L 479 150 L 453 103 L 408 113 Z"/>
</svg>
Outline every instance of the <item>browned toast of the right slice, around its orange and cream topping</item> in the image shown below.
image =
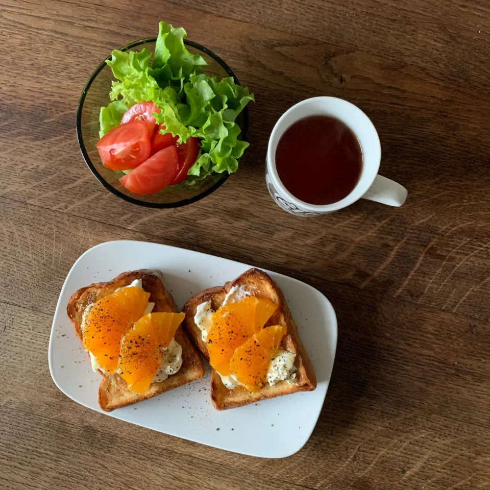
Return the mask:
<svg viewBox="0 0 490 490">
<path fill-rule="evenodd" d="M 198 305 L 209 301 L 211 308 L 216 311 L 223 304 L 228 291 L 233 286 L 242 286 L 253 296 L 267 298 L 278 305 L 278 309 L 266 323 L 268 325 L 286 325 L 286 335 L 282 339 L 281 347 L 289 352 L 296 353 L 296 380 L 288 383 L 278 381 L 273 386 L 268 383 L 258 392 L 251 392 L 243 386 L 228 389 L 222 382 L 219 374 L 211 370 L 211 401 L 217 410 L 241 407 L 267 398 L 289 395 L 297 391 L 311 391 L 316 388 L 316 376 L 313 366 L 308 358 L 303 342 L 298 335 L 298 329 L 292 319 L 291 312 L 284 299 L 282 291 L 277 284 L 259 269 L 249 269 L 234 281 L 227 282 L 223 287 L 211 287 L 201 291 L 191 298 L 182 308 L 185 313 L 185 327 L 194 344 L 209 360 L 206 342 L 201 338 L 201 330 L 194 323 L 194 316 Z"/>
</svg>

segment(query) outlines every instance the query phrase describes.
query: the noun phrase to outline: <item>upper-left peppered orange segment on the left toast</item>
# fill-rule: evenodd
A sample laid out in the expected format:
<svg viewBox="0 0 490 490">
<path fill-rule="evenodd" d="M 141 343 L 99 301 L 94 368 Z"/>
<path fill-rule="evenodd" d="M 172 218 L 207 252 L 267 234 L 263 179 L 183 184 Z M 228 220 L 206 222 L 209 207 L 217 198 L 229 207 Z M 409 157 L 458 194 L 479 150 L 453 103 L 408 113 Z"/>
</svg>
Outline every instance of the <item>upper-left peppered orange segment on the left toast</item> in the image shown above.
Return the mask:
<svg viewBox="0 0 490 490">
<path fill-rule="evenodd" d="M 144 313 L 150 293 L 139 287 L 124 287 L 97 301 L 85 317 L 83 347 L 102 369 L 113 373 L 121 337 Z"/>
</svg>

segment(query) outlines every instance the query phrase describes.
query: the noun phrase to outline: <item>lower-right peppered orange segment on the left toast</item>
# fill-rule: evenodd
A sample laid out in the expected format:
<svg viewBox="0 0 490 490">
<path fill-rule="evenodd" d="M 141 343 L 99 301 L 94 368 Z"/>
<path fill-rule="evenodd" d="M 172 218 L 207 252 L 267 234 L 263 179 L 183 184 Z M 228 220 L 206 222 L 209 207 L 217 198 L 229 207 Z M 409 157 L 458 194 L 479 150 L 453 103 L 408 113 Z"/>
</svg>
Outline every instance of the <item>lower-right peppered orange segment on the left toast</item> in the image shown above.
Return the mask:
<svg viewBox="0 0 490 490">
<path fill-rule="evenodd" d="M 122 338 L 119 375 L 136 393 L 145 393 L 160 369 L 162 351 L 174 338 L 184 313 L 148 313 Z"/>
</svg>

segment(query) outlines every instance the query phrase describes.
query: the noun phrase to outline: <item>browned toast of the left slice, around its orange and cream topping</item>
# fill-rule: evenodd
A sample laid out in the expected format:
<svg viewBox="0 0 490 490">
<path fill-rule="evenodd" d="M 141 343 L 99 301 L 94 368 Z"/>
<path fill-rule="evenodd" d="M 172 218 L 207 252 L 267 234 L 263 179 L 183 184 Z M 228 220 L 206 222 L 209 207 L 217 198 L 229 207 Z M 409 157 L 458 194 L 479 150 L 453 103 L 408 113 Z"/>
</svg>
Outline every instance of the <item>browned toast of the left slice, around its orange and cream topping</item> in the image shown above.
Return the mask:
<svg viewBox="0 0 490 490">
<path fill-rule="evenodd" d="M 83 287 L 76 291 L 68 301 L 66 312 L 75 327 L 75 334 L 82 341 L 82 317 L 85 308 L 91 303 L 104 298 L 114 292 L 118 287 L 131 284 L 135 279 L 141 279 L 143 289 L 150 293 L 149 301 L 155 303 L 154 312 L 177 312 L 174 298 L 166 290 L 162 275 L 159 271 L 140 271 L 124 272 L 110 282 L 100 282 Z M 203 361 L 199 352 L 194 348 L 185 333 L 182 325 L 175 333 L 175 340 L 182 346 L 182 366 L 180 370 L 166 380 L 159 383 L 152 383 L 146 393 L 135 393 L 128 388 L 126 381 L 119 375 L 103 375 L 102 383 L 99 387 L 99 405 L 106 412 L 115 408 L 125 407 L 147 398 L 152 398 L 170 389 L 177 388 L 189 383 L 194 379 L 204 376 Z"/>
</svg>

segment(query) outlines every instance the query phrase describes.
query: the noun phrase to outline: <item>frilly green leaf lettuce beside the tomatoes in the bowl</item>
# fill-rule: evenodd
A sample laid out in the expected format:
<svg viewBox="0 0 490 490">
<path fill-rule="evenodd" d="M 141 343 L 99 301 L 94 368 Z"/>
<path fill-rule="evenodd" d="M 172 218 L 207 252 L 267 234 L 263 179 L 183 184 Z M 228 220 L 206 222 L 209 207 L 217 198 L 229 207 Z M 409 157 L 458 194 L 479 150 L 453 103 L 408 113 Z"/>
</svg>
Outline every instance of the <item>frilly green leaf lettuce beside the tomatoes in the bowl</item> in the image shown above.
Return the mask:
<svg viewBox="0 0 490 490">
<path fill-rule="evenodd" d="M 237 85 L 232 77 L 217 80 L 202 72 L 206 61 L 191 54 L 184 44 L 186 32 L 160 22 L 153 63 L 151 53 L 113 51 L 107 64 L 114 77 L 111 102 L 101 109 L 101 136 L 119 124 L 127 108 L 139 102 L 154 102 L 160 109 L 157 122 L 164 122 L 162 133 L 191 136 L 201 140 L 198 159 L 184 182 L 192 185 L 212 173 L 232 173 L 238 158 L 249 143 L 238 139 L 240 127 L 235 120 L 243 108 L 254 101 L 248 88 Z"/>
</svg>

